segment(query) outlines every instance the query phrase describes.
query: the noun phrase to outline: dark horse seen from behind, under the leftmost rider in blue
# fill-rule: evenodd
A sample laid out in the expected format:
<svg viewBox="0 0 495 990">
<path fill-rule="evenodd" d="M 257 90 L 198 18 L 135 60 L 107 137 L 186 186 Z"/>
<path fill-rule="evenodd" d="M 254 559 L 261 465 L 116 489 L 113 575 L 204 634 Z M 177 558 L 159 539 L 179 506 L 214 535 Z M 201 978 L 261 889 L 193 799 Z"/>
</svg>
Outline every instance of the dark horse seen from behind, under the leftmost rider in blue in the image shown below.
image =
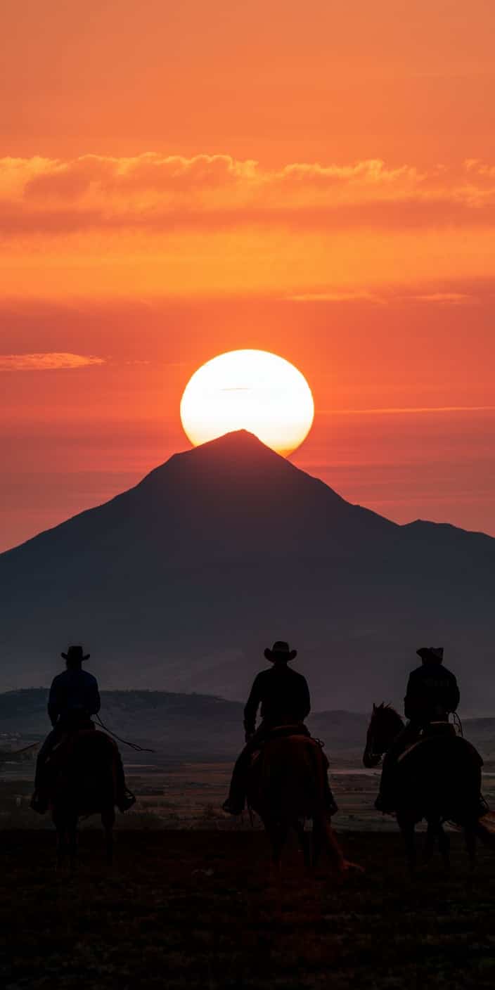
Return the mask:
<svg viewBox="0 0 495 990">
<path fill-rule="evenodd" d="M 57 866 L 68 851 L 75 866 L 77 825 L 81 817 L 99 814 L 105 832 L 106 856 L 113 859 L 116 802 L 116 744 L 98 730 L 79 730 L 62 738 L 47 762 L 47 791 L 56 829 Z"/>
</svg>

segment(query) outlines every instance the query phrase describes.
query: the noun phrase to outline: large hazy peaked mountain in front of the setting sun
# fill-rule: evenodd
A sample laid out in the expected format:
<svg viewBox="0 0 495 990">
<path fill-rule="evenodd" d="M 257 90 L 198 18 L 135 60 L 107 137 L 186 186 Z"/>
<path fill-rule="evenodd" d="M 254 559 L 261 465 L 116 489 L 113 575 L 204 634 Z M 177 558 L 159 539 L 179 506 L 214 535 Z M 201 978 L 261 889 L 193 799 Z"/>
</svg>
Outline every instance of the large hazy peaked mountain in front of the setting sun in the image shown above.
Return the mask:
<svg viewBox="0 0 495 990">
<path fill-rule="evenodd" d="M 495 540 L 397 526 L 242 431 L 0 554 L 0 688 L 47 683 L 82 642 L 102 686 L 246 696 L 276 639 L 315 708 L 399 703 L 443 644 L 463 712 L 495 706 Z"/>
</svg>

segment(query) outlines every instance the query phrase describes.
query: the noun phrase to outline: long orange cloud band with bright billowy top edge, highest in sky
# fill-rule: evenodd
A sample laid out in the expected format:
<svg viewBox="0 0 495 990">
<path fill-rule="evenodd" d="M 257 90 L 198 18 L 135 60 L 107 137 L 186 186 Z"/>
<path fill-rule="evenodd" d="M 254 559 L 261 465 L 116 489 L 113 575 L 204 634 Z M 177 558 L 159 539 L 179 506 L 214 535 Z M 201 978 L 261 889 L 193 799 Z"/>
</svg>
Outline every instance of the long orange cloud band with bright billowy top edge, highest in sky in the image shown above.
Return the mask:
<svg viewBox="0 0 495 990">
<path fill-rule="evenodd" d="M 269 169 L 228 154 L 0 159 L 4 237 L 155 232 L 495 225 L 495 166 L 389 167 L 379 158 Z"/>
</svg>

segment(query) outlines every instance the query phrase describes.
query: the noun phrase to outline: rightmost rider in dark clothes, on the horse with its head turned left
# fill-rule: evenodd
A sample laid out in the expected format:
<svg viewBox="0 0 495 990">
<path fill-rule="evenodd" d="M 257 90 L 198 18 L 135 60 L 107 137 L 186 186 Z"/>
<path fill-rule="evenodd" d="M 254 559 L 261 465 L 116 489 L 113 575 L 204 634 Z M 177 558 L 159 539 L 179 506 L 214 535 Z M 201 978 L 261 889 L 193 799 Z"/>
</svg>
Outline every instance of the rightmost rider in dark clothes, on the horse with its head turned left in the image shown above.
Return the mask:
<svg viewBox="0 0 495 990">
<path fill-rule="evenodd" d="M 409 675 L 404 715 L 409 722 L 396 737 L 383 760 L 377 811 L 394 811 L 394 770 L 401 753 L 417 743 L 423 730 L 433 722 L 448 722 L 460 700 L 454 674 L 444 666 L 443 646 L 422 646 L 417 650 L 422 665 Z"/>
</svg>

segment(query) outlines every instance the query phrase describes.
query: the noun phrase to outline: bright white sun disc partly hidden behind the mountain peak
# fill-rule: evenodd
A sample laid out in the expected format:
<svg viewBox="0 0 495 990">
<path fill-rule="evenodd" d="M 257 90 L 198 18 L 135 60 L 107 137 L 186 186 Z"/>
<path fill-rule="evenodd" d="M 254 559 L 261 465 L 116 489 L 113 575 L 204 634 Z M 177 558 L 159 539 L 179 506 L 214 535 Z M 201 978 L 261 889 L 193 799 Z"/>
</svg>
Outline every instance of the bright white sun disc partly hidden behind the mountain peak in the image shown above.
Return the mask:
<svg viewBox="0 0 495 990">
<path fill-rule="evenodd" d="M 308 436 L 314 415 L 304 375 L 267 350 L 213 357 L 194 372 L 180 402 L 182 426 L 194 446 L 248 430 L 284 456 Z"/>
</svg>

